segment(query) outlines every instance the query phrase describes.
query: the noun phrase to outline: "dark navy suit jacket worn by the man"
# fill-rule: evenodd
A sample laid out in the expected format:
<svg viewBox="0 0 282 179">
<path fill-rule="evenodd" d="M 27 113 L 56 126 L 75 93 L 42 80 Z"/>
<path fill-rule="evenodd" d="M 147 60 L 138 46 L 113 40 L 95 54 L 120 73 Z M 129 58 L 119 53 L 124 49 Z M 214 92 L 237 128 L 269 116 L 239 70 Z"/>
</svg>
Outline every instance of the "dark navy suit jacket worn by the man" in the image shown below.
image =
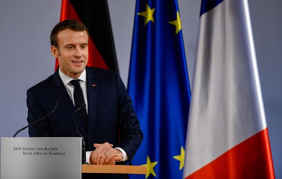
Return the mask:
<svg viewBox="0 0 282 179">
<path fill-rule="evenodd" d="M 88 150 L 94 143 L 109 142 L 125 150 L 131 160 L 143 139 L 132 101 L 119 75 L 110 70 L 86 67 L 88 131 L 76 121 Z M 50 113 L 55 101 L 60 105 L 46 119 L 29 127 L 30 137 L 79 137 L 73 123 L 75 106 L 58 74 L 48 77 L 27 91 L 28 123 Z M 87 134 L 87 135 L 86 135 Z"/>
</svg>

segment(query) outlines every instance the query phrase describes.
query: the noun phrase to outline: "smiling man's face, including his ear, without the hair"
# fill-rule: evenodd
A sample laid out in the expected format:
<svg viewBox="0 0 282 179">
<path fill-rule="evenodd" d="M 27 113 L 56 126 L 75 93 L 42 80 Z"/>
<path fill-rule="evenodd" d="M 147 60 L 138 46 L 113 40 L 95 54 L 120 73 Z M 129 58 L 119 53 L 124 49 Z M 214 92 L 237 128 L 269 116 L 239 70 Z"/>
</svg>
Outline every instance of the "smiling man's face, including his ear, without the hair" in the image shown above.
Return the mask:
<svg viewBox="0 0 282 179">
<path fill-rule="evenodd" d="M 78 78 L 88 62 L 88 34 L 63 30 L 57 35 L 58 49 L 51 46 L 51 53 L 58 58 L 60 70 L 71 78 Z"/>
</svg>

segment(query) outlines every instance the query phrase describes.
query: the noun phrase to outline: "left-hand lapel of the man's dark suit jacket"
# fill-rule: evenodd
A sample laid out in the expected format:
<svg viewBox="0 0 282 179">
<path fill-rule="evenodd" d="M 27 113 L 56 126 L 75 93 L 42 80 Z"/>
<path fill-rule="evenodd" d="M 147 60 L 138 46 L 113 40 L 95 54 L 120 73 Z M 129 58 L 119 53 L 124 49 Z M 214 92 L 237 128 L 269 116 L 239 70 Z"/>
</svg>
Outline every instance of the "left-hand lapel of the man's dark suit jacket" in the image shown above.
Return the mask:
<svg viewBox="0 0 282 179">
<path fill-rule="evenodd" d="M 61 77 L 59 77 L 58 68 L 54 74 L 54 88 L 53 92 L 55 93 L 56 97 L 59 99 L 60 105 L 62 105 L 67 113 L 69 114 L 69 118 L 71 119 L 71 125 L 73 124 L 73 112 L 75 111 L 75 106 L 67 92 L 66 87 L 63 84 Z M 64 118 L 64 116 L 62 116 Z M 82 127 L 82 123 L 79 120 L 79 115 L 76 114 L 75 116 L 78 128 L 82 131 L 82 134 L 86 136 L 86 131 Z M 73 124 L 74 125 L 74 124 Z"/>
</svg>

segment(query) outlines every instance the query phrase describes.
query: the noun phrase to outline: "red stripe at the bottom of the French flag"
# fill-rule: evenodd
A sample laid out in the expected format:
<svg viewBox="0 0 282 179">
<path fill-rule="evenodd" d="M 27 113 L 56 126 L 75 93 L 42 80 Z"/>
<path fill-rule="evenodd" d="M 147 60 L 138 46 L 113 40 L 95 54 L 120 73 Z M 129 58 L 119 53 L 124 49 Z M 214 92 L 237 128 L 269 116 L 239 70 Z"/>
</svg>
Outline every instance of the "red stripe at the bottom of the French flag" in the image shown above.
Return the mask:
<svg viewBox="0 0 282 179">
<path fill-rule="evenodd" d="M 271 162 L 268 129 L 226 151 L 217 159 L 186 177 L 275 178 Z"/>
</svg>

